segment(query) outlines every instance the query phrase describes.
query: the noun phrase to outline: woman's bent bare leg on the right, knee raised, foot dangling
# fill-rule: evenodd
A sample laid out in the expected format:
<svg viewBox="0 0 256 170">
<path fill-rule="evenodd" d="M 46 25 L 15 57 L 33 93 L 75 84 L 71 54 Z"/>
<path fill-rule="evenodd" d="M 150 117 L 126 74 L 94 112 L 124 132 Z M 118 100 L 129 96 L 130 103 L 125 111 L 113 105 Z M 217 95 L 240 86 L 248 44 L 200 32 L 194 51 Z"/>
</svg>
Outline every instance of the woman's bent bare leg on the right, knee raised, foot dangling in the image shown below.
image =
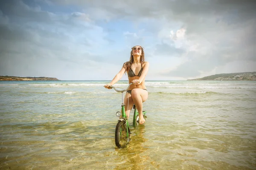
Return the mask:
<svg viewBox="0 0 256 170">
<path fill-rule="evenodd" d="M 145 119 L 142 113 L 142 103 L 148 99 L 148 91 L 143 90 L 141 88 L 134 88 L 131 91 L 131 96 L 139 112 L 139 123 L 143 124 L 145 123 Z"/>
</svg>

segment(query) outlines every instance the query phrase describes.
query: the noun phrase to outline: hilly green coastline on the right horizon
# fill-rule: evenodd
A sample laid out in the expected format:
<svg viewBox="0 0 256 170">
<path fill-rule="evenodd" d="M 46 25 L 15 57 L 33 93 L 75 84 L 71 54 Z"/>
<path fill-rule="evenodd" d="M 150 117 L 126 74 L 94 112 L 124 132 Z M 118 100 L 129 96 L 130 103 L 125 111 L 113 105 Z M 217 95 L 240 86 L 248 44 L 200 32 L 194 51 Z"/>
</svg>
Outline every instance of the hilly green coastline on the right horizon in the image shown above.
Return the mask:
<svg viewBox="0 0 256 170">
<path fill-rule="evenodd" d="M 256 72 L 215 74 L 203 78 L 188 80 L 256 80 Z"/>
</svg>

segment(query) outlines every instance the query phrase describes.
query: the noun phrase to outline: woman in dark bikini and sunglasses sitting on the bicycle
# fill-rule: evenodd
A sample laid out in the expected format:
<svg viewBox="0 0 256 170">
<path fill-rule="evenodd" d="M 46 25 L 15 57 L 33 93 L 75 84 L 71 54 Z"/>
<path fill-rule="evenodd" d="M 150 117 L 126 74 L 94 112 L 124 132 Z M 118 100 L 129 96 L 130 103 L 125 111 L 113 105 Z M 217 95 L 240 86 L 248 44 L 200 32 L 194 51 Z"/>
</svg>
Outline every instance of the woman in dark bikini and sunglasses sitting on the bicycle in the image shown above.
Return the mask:
<svg viewBox="0 0 256 170">
<path fill-rule="evenodd" d="M 149 63 L 145 62 L 144 51 L 141 46 L 136 45 L 131 49 L 130 61 L 125 62 L 119 73 L 116 74 L 113 80 L 104 87 L 110 89 L 109 86 L 118 82 L 126 71 L 129 84 L 132 82 L 133 85 L 129 87 L 127 93 L 125 94 L 125 113 L 128 119 L 133 104 L 135 104 L 139 112 L 139 123 L 143 124 L 145 123 L 145 119 L 142 113 L 142 104 L 148 99 L 148 91 L 145 86 L 145 77 L 148 73 Z"/>
</svg>

